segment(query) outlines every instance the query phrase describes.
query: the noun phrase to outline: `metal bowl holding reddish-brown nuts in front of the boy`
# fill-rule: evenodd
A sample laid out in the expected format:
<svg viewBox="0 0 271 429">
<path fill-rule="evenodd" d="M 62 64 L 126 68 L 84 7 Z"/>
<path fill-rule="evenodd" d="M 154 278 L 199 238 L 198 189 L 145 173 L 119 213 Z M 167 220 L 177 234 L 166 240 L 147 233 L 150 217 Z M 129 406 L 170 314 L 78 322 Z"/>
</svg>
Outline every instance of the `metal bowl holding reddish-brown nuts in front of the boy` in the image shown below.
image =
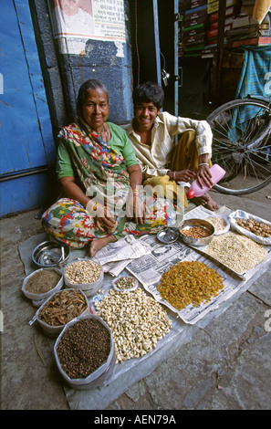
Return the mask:
<svg viewBox="0 0 271 429">
<path fill-rule="evenodd" d="M 182 234 L 182 230 L 190 230 L 195 226 L 201 226 L 207 232 L 207 236 L 204 237 L 192 237 Z M 182 241 L 191 246 L 206 246 L 208 245 L 214 237 L 214 226 L 203 219 L 188 219 L 182 222 L 182 225 L 179 228 L 179 234 Z"/>
</svg>

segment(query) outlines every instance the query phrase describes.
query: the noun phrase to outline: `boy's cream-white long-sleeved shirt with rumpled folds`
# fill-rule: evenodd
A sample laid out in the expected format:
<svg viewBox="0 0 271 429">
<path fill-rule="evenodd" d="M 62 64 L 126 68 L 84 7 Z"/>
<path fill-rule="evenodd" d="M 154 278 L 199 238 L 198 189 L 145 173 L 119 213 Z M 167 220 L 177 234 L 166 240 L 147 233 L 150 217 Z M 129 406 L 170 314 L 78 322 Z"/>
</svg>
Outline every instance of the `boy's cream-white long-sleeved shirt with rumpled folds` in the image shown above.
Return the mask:
<svg viewBox="0 0 271 429">
<path fill-rule="evenodd" d="M 151 130 L 151 145 L 141 143 L 131 123 L 124 127 L 133 146 L 136 157 L 143 173 L 152 176 L 166 174 L 166 165 L 170 162 L 174 148 L 174 136 L 184 131 L 195 131 L 198 155 L 208 153 L 212 157 L 213 133 L 206 120 L 191 120 L 172 116 L 168 112 L 160 113 L 153 123 Z"/>
</svg>

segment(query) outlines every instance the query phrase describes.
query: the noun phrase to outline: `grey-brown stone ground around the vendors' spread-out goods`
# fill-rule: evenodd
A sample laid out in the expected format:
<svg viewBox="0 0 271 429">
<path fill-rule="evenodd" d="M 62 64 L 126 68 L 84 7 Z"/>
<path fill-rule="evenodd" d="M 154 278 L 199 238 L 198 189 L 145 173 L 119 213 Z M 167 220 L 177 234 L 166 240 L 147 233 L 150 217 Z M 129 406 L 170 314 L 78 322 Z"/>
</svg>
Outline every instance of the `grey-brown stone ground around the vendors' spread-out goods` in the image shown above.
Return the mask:
<svg viewBox="0 0 271 429">
<path fill-rule="evenodd" d="M 271 221 L 270 186 L 241 197 L 212 194 L 219 204 Z M 43 232 L 36 214 L 38 209 L 0 222 L 3 410 L 69 409 L 47 338 L 28 325 L 36 310 L 21 292 L 25 272 L 18 246 Z M 270 409 L 270 309 L 269 266 L 229 309 L 196 329 L 191 341 L 108 409 Z"/>
</svg>

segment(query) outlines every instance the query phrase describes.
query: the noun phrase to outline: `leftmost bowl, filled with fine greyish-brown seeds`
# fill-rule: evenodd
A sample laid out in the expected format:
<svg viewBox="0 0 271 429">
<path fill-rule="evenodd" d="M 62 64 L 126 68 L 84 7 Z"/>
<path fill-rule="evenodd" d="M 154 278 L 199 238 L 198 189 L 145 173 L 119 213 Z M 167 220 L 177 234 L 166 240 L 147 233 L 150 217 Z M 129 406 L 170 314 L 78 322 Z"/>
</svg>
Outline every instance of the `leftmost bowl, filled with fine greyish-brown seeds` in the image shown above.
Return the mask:
<svg viewBox="0 0 271 429">
<path fill-rule="evenodd" d="M 35 307 L 38 307 L 62 286 L 63 275 L 60 269 L 40 268 L 24 279 L 22 292 L 26 298 L 32 299 Z"/>
</svg>

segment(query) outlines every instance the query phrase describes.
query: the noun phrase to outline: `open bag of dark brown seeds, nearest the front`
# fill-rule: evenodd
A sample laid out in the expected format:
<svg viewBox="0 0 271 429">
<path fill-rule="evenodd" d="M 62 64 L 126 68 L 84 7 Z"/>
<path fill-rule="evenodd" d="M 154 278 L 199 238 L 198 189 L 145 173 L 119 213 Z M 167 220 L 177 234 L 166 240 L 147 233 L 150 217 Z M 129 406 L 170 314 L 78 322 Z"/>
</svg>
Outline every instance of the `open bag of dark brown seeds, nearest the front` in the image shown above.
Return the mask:
<svg viewBox="0 0 271 429">
<path fill-rule="evenodd" d="M 63 379 L 78 390 L 106 382 L 116 364 L 111 330 L 93 314 L 68 323 L 57 338 L 54 354 Z"/>
</svg>

